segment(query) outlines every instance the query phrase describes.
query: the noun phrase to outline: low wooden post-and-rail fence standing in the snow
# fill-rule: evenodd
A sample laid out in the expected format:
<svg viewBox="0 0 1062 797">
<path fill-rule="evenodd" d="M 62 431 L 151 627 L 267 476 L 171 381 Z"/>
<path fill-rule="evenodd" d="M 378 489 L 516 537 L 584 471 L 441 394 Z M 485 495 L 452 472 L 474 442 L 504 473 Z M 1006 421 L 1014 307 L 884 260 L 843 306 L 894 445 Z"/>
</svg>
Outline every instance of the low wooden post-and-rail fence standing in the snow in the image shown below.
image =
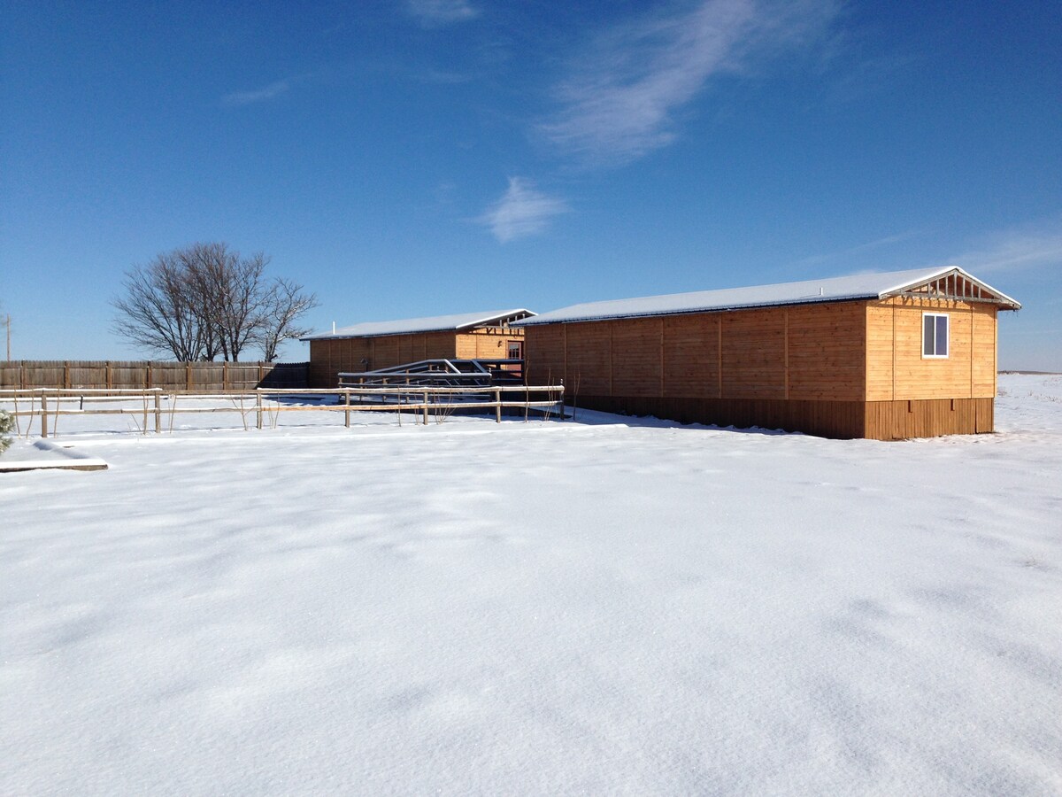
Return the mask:
<svg viewBox="0 0 1062 797">
<path fill-rule="evenodd" d="M 302 403 L 298 402 L 302 398 Z M 330 400 L 335 403 L 323 403 Z M 306 403 L 307 401 L 312 403 Z M 217 405 L 221 402 L 224 406 Z M 86 405 L 88 405 L 86 407 Z M 122 405 L 122 406 L 119 406 Z M 142 418 L 139 426 L 147 435 L 149 425 L 159 434 L 169 421 L 173 430 L 176 414 L 201 412 L 238 412 L 243 427 L 249 428 L 247 418 L 254 414 L 255 427 L 263 428 L 268 420 L 270 426 L 277 425 L 280 412 L 341 412 L 343 425 L 350 426 L 350 413 L 359 411 L 389 411 L 398 414 L 412 412 L 417 421 L 427 424 L 431 418 L 442 422 L 457 411 L 493 410 L 495 420 L 501 423 L 506 410 L 518 411 L 525 420 L 534 410 L 543 418 L 556 414 L 564 417 L 564 386 L 496 386 L 476 393 L 467 388 L 418 387 L 410 388 L 340 388 L 279 390 L 258 388 L 240 393 L 167 393 L 160 388 L 141 390 L 66 390 L 37 388 L 31 390 L 0 389 L 0 409 L 7 409 L 19 419 L 29 422 L 24 430 L 18 424 L 18 434 L 29 437 L 36 420 L 41 437 L 48 437 L 57 427 L 63 416 L 131 416 Z M 153 422 L 153 423 L 152 423 Z"/>
</svg>

